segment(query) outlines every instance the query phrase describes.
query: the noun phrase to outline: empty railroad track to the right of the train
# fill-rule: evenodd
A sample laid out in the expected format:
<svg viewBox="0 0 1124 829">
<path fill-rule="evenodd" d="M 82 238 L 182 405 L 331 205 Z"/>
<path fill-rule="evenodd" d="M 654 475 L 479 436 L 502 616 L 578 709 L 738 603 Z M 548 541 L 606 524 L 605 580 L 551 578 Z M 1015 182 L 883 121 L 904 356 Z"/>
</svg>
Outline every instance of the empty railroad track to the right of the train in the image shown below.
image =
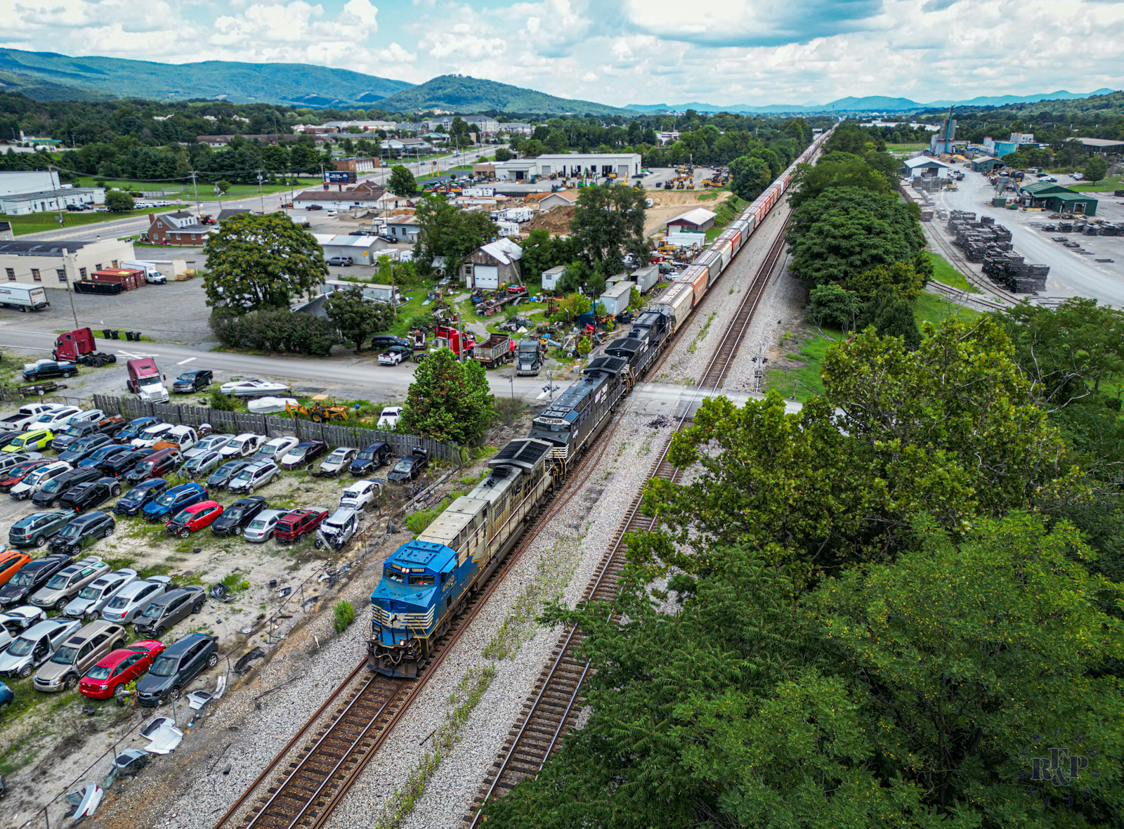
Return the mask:
<svg viewBox="0 0 1124 829">
<path fill-rule="evenodd" d="M 781 258 L 787 227 L 786 220 L 703 374 L 704 379 L 713 379 L 713 384 L 704 382 L 696 386 L 696 398 L 704 389 L 720 388 L 720 383 L 725 380 L 749 330 L 753 312 Z M 691 408 L 688 406 L 686 412 L 690 412 Z M 682 429 L 687 419 L 688 414 L 685 413 L 676 431 Z M 680 471 L 668 461 L 670 448 L 669 438 L 652 467 L 649 480 L 663 479 L 672 482 L 678 480 Z M 642 490 L 628 505 L 627 518 L 617 528 L 613 544 L 586 587 L 582 602 L 608 602 L 616 596 L 620 574 L 627 563 L 625 536 L 628 532 L 651 531 L 659 521 L 656 516 L 643 514 L 641 511 L 643 500 Z M 475 829 L 480 825 L 486 802 L 504 796 L 522 780 L 537 775 L 551 755 L 561 747 L 562 738 L 573 727 L 581 708 L 581 686 L 590 672 L 589 663 L 578 655 L 581 641 L 582 634 L 577 626 L 559 636 L 546 666 L 536 680 L 531 696 L 524 703 L 519 720 L 508 732 L 492 769 L 477 792 L 471 811 L 463 819 L 466 829 Z"/>
</svg>

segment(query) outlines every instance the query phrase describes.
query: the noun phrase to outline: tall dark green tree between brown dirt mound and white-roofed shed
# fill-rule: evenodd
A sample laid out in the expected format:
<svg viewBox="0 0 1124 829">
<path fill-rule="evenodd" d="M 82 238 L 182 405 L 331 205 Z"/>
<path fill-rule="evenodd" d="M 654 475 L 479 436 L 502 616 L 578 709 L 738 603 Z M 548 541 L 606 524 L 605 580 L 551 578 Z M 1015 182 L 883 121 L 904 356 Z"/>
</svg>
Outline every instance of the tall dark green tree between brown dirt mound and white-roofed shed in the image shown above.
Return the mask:
<svg viewBox="0 0 1124 829">
<path fill-rule="evenodd" d="M 644 191 L 623 184 L 586 188 L 574 204 L 570 230 L 581 258 L 605 276 L 618 273 L 625 254 L 646 262 Z"/>
</svg>

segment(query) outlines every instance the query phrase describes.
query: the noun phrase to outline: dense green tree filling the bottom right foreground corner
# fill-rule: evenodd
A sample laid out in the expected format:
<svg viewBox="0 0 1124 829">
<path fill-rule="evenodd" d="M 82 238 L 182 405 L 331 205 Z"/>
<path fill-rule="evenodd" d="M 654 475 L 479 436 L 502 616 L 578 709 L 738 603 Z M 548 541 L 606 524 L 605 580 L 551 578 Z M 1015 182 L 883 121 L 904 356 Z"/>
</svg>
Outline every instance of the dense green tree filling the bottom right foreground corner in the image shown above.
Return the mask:
<svg viewBox="0 0 1124 829">
<path fill-rule="evenodd" d="M 678 612 L 632 574 L 615 618 L 549 613 L 582 628 L 591 716 L 486 807 L 488 825 L 1115 826 L 1124 705 L 1105 668 L 1124 647 L 1097 599 L 1120 589 L 1088 575 L 1071 528 L 1014 516 L 955 544 L 917 525 L 898 562 L 803 598 L 783 567 L 733 546 L 720 568 L 671 582 Z M 1100 777 L 1072 809 L 1027 796 L 1019 776 L 1055 734 L 1097 751 Z"/>
</svg>

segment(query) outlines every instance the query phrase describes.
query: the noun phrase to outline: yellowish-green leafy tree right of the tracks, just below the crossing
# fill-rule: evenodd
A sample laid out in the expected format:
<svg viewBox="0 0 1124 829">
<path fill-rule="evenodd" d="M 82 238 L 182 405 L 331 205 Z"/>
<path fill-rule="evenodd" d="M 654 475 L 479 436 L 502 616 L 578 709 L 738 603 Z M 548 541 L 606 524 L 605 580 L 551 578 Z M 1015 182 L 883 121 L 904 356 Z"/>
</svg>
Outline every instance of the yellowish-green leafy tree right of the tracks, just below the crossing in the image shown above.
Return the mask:
<svg viewBox="0 0 1124 829">
<path fill-rule="evenodd" d="M 918 511 L 955 529 L 1034 503 L 1064 449 L 1003 330 L 950 320 L 928 334 L 916 350 L 873 328 L 836 344 L 825 397 L 798 413 L 776 391 L 704 401 L 669 454 L 697 474 L 647 484 L 663 532 L 638 535 L 629 557 L 695 573 L 715 566 L 715 546 L 743 544 L 812 582 L 892 558 Z"/>
</svg>

